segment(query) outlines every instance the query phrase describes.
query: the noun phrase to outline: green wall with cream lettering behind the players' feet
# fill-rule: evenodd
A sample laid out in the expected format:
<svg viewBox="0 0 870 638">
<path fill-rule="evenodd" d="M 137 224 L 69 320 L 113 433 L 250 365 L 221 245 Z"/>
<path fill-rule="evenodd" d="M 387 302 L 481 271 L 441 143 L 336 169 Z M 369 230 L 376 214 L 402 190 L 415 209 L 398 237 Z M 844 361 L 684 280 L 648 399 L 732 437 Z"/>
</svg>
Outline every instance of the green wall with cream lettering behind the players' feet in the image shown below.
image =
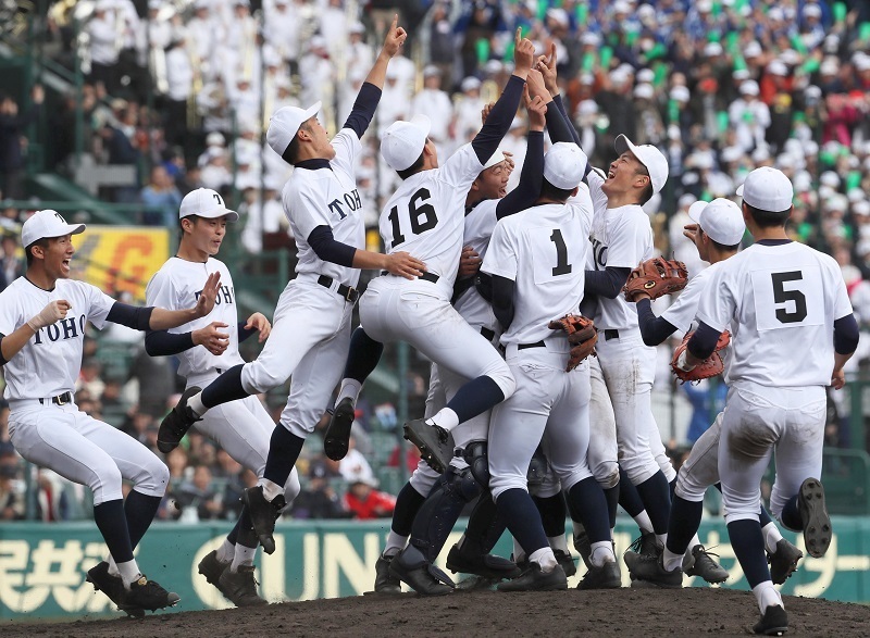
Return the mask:
<svg viewBox="0 0 870 638">
<path fill-rule="evenodd" d="M 199 560 L 222 542 L 229 527 L 226 523 L 157 523 L 151 527 L 137 550 L 137 560 L 149 577 L 182 597 L 172 611 L 229 606 L 197 574 Z M 388 530 L 388 520 L 279 524 L 275 553 L 257 560 L 261 592 L 270 601 L 359 596 L 371 589 L 374 563 Z M 828 554 L 805 559 L 783 586 L 784 593 L 870 602 L 870 517 L 835 517 L 834 531 Z M 635 534 L 636 527 L 629 521 L 619 522 L 619 553 Z M 746 589 L 724 522 L 705 521 L 699 536 L 731 572 L 725 586 Z M 794 535 L 786 536 L 795 541 Z M 458 538 L 455 534 L 448 542 Z M 796 542 L 803 549 L 803 540 Z M 496 551 L 510 555 L 507 535 Z M 105 546 L 92 523 L 0 524 L 0 618 L 72 620 L 117 614 L 110 601 L 85 581 L 85 572 L 104 554 Z M 569 586 L 579 577 L 569 579 Z M 624 568 L 623 580 L 627 586 Z M 694 580 L 686 579 L 686 584 L 698 585 Z"/>
</svg>

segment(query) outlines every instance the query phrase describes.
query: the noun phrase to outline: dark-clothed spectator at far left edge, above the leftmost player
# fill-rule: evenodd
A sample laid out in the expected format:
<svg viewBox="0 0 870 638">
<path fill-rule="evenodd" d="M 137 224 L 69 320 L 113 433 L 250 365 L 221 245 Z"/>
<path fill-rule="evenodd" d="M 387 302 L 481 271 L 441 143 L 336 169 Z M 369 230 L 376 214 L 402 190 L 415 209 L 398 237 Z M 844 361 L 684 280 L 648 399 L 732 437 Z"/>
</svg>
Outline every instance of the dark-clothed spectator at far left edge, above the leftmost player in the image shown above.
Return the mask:
<svg viewBox="0 0 870 638">
<path fill-rule="evenodd" d="M 33 108 L 26 112 L 18 111 L 18 104 L 11 96 L 0 93 L 0 192 L 7 199 L 22 199 L 22 178 L 27 140 L 24 129 L 39 115 L 45 100 L 41 85 L 33 88 Z"/>
</svg>

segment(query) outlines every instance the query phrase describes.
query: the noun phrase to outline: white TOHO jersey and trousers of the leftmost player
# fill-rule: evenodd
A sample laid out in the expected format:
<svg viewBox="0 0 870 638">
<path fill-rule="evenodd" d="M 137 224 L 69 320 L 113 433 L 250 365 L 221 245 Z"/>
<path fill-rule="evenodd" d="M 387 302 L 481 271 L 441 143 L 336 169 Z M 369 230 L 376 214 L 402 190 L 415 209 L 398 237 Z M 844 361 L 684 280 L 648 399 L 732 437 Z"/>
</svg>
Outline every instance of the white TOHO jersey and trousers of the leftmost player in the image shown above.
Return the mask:
<svg viewBox="0 0 870 638">
<path fill-rule="evenodd" d="M 12 334 L 60 299 L 70 302 L 66 318 L 39 329 L 3 366 L 12 443 L 27 461 L 87 485 L 95 505 L 122 499 L 122 479 L 142 495 L 162 497 L 170 472 L 160 459 L 73 403 L 85 325 L 102 329 L 115 300 L 84 282 L 59 279 L 42 290 L 18 277 L 0 292 L 0 334 Z"/>
</svg>

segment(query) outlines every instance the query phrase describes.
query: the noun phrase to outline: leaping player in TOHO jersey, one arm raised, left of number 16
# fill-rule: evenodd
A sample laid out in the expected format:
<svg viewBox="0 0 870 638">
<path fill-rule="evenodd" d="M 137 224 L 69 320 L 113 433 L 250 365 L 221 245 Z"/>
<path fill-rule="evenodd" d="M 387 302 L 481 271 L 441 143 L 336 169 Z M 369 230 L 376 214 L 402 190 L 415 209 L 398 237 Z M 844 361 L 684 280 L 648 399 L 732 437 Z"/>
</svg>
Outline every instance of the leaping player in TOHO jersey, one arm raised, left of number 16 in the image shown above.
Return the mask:
<svg viewBox="0 0 870 638">
<path fill-rule="evenodd" d="M 340 377 L 359 268 L 386 270 L 397 277 L 415 277 L 425 268 L 407 252 L 363 250 L 364 214 L 353 177 L 360 138 L 374 116 L 389 60 L 405 38 L 394 17 L 353 110 L 332 142 L 315 117 L 320 103 L 308 110 L 285 107 L 272 116 L 266 140 L 295 166 L 282 199 L 299 252 L 297 276 L 278 299 L 272 333 L 257 360 L 229 367 L 204 390 L 188 386 L 160 425 L 158 447 L 169 451 L 210 409 L 277 387 L 294 375 L 263 475 L 243 496 L 270 554 L 275 551 L 275 520 L 286 505 L 284 486 Z"/>
</svg>

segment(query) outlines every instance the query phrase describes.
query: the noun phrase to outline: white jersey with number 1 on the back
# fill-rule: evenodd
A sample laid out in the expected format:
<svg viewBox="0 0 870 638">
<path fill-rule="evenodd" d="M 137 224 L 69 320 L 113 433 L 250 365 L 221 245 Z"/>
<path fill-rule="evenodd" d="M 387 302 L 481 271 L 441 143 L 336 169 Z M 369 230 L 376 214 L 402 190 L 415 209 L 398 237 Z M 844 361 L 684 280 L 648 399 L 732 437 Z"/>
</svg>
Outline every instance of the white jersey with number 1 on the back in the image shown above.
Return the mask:
<svg viewBox="0 0 870 638">
<path fill-rule="evenodd" d="M 592 217 L 584 195 L 567 204 L 539 204 L 498 223 L 493 243 L 509 241 L 517 260 L 513 321 L 502 343 L 539 341 L 552 334 L 550 320 L 579 312 Z"/>
</svg>

